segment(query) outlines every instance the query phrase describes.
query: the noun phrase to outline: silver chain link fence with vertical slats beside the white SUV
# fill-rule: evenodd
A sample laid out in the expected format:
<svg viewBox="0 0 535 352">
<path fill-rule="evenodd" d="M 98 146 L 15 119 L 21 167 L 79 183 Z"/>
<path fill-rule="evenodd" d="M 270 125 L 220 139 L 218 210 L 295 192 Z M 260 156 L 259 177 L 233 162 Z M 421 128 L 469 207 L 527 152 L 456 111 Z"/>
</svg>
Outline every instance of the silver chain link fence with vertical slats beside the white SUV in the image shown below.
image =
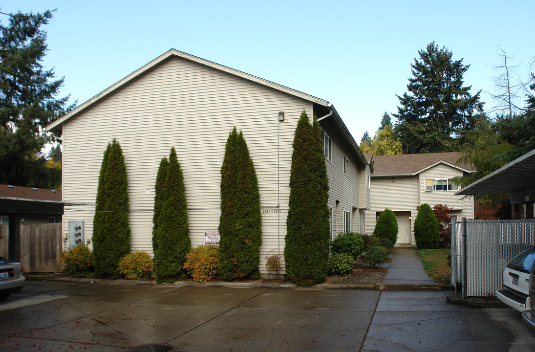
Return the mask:
<svg viewBox="0 0 535 352">
<path fill-rule="evenodd" d="M 452 221 L 452 285 L 462 296 L 495 296 L 503 268 L 535 246 L 535 220 Z"/>
</svg>

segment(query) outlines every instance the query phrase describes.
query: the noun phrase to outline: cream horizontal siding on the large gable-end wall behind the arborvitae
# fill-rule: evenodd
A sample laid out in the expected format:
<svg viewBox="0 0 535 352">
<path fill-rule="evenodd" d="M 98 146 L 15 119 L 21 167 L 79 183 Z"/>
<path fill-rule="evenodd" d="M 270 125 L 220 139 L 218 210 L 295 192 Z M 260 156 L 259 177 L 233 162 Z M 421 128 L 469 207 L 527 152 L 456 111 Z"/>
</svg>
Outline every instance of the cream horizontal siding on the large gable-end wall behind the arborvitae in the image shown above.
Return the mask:
<svg viewBox="0 0 535 352">
<path fill-rule="evenodd" d="M 154 183 L 160 160 L 177 150 L 184 173 L 192 245 L 219 225 L 220 168 L 233 126 L 241 129 L 253 159 L 263 209 L 261 265 L 269 250 L 284 248 L 293 134 L 310 102 L 182 58 L 171 58 L 93 104 L 64 126 L 65 201 L 94 203 L 103 152 L 116 138 L 128 175 L 132 249 L 152 250 Z M 280 123 L 278 157 L 278 112 Z M 278 159 L 280 168 L 277 168 Z M 277 181 L 279 180 L 279 189 Z M 146 195 L 150 189 L 150 195 Z M 65 211 L 93 229 L 94 207 Z M 84 210 L 84 211 L 81 211 Z"/>
</svg>

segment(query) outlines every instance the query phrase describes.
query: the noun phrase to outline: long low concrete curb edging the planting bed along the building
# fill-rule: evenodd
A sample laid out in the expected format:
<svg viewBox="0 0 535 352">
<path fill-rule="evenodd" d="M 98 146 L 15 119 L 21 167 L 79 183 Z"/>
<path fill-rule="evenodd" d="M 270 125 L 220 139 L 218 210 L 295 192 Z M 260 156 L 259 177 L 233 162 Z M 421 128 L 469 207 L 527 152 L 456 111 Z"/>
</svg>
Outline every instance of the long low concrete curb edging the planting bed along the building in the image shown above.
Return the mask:
<svg viewBox="0 0 535 352">
<path fill-rule="evenodd" d="M 295 284 L 277 284 L 275 282 L 196 282 L 196 281 L 177 281 L 172 284 L 156 284 L 152 280 L 124 280 L 124 279 L 86 279 L 86 278 L 56 278 L 56 277 L 29 277 L 27 280 L 50 280 L 50 281 L 72 281 L 72 282 L 90 282 L 91 284 L 119 284 L 119 285 L 155 285 L 155 286 L 220 286 L 220 287 L 234 287 L 234 288 L 253 288 L 253 287 L 267 287 L 267 288 L 294 288 L 294 289 L 362 289 L 362 290 L 385 290 L 385 291 L 440 291 L 452 290 L 453 286 L 443 286 L 439 284 L 318 284 L 311 287 L 297 286 Z"/>
</svg>

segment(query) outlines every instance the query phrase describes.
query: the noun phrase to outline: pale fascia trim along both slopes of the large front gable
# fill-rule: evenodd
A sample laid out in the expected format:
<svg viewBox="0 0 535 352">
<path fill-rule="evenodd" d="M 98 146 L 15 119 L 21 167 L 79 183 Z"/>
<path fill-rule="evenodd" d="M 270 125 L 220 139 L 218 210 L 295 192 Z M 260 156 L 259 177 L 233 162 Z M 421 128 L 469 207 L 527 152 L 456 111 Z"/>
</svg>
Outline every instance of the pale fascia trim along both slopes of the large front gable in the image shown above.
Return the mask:
<svg viewBox="0 0 535 352">
<path fill-rule="evenodd" d="M 125 85 L 127 82 L 129 82 L 132 79 L 136 78 L 140 74 L 150 70 L 150 68 L 158 65 L 163 60 L 165 60 L 165 59 L 167 59 L 167 58 L 169 58 L 171 56 L 178 56 L 178 57 L 181 57 L 181 58 L 185 58 L 185 59 L 191 60 L 191 61 L 196 62 L 196 63 L 203 64 L 205 66 L 216 68 L 217 70 L 220 70 L 220 71 L 223 71 L 223 72 L 227 72 L 227 73 L 239 76 L 241 78 L 244 78 L 244 79 L 259 83 L 261 85 L 264 85 L 264 86 L 267 86 L 267 87 L 270 87 L 270 88 L 273 88 L 273 89 L 277 89 L 277 90 L 283 91 L 284 93 L 287 93 L 287 94 L 290 94 L 290 95 L 294 95 L 296 97 L 302 98 L 303 100 L 310 101 L 312 103 L 316 103 L 316 104 L 323 105 L 323 106 L 331 106 L 331 104 L 329 102 L 327 102 L 327 101 L 325 101 L 323 99 L 317 98 L 315 96 L 305 94 L 305 93 L 303 93 L 303 92 L 301 92 L 299 90 L 295 90 L 295 89 L 292 89 L 292 88 L 281 86 L 281 85 L 279 85 L 277 83 L 274 83 L 274 82 L 259 78 L 257 76 L 254 76 L 254 75 L 251 75 L 251 74 L 248 74 L 248 73 L 245 73 L 245 72 L 241 72 L 241 71 L 238 71 L 238 70 L 234 70 L 233 68 L 230 68 L 230 67 L 227 67 L 227 66 L 223 66 L 223 65 L 220 65 L 220 64 L 216 64 L 214 62 L 202 59 L 202 58 L 197 57 L 197 56 L 190 55 L 188 53 L 185 53 L 185 52 L 182 52 L 182 51 L 179 51 L 179 50 L 171 49 L 171 50 L 163 53 L 162 55 L 158 56 L 157 58 L 155 58 L 154 60 L 152 60 L 148 64 L 142 66 L 141 68 L 139 68 L 136 71 L 132 72 L 131 74 L 127 75 L 125 78 L 121 79 L 117 83 L 114 83 L 112 86 L 104 89 L 103 91 L 101 91 L 101 93 L 98 93 L 97 95 L 95 95 L 94 97 L 92 97 L 88 101 L 86 101 L 85 103 L 81 104 L 77 108 L 73 109 L 72 111 L 66 113 L 64 116 L 60 117 L 56 121 L 53 121 L 51 124 L 49 124 L 48 126 L 46 126 L 44 128 L 44 131 L 51 132 L 52 129 L 57 128 L 59 125 L 63 124 L 66 120 L 68 120 L 69 118 L 71 118 L 75 114 L 77 114 L 80 111 L 86 109 L 89 105 L 95 103 L 96 101 L 98 101 L 101 98 L 105 97 L 106 95 L 110 94 L 112 91 L 114 91 L 117 88 Z"/>
</svg>

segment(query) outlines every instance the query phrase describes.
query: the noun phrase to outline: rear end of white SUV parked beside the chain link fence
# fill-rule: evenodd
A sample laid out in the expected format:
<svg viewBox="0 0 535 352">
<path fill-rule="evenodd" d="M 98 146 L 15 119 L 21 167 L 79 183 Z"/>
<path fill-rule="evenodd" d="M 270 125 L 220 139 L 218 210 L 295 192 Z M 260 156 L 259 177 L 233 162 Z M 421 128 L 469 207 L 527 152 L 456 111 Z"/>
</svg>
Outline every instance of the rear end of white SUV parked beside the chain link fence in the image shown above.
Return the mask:
<svg viewBox="0 0 535 352">
<path fill-rule="evenodd" d="M 524 311 L 529 295 L 530 270 L 535 261 L 535 247 L 514 257 L 503 269 L 503 289 L 496 297 L 519 312 Z"/>
</svg>

